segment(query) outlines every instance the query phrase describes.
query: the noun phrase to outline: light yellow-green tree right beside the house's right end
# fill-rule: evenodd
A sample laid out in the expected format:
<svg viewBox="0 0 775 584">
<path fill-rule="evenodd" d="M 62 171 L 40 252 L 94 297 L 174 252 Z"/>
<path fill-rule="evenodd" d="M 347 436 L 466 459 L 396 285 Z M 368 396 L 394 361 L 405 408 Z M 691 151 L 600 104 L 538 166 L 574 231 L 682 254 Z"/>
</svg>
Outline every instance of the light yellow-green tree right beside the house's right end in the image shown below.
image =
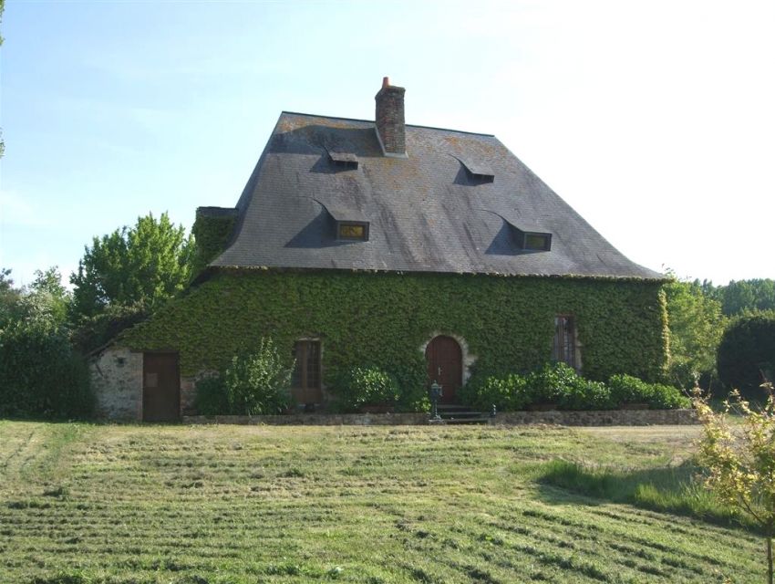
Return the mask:
<svg viewBox="0 0 775 584">
<path fill-rule="evenodd" d="M 671 382 L 693 387 L 702 374 L 716 370 L 716 350 L 726 325 L 708 286 L 674 279 L 665 287 L 670 328 Z"/>
</svg>

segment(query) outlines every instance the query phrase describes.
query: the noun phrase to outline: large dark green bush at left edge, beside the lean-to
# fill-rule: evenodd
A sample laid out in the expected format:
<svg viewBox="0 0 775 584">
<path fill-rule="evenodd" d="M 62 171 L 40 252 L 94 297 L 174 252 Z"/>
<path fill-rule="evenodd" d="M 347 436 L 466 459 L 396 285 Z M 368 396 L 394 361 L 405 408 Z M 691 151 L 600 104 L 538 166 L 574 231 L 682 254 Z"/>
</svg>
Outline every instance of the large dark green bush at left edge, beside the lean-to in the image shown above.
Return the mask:
<svg viewBox="0 0 775 584">
<path fill-rule="evenodd" d="M 0 328 L 0 416 L 82 418 L 93 405 L 88 367 L 64 329 L 34 319 Z"/>
</svg>

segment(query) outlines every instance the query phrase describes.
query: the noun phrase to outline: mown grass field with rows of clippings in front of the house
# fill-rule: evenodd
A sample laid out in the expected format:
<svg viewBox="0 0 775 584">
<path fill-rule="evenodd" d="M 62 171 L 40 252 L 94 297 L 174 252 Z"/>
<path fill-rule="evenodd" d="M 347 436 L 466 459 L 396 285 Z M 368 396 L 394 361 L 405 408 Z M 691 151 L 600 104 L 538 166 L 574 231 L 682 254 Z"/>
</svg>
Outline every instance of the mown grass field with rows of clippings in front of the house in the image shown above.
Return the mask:
<svg viewBox="0 0 775 584">
<path fill-rule="evenodd" d="M 763 543 L 539 483 L 696 428 L 0 422 L 0 582 L 760 582 Z"/>
</svg>

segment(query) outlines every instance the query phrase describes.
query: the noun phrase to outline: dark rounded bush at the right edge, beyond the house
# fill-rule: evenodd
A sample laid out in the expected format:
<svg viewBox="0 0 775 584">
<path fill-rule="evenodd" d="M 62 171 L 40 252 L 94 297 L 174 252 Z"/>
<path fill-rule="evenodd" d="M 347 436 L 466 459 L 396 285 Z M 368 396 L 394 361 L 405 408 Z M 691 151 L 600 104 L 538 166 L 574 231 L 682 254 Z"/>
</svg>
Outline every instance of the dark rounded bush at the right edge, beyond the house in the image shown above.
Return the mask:
<svg viewBox="0 0 775 584">
<path fill-rule="evenodd" d="M 718 346 L 718 376 L 728 387 L 759 394 L 759 371 L 775 370 L 775 312 L 740 317 Z"/>
</svg>

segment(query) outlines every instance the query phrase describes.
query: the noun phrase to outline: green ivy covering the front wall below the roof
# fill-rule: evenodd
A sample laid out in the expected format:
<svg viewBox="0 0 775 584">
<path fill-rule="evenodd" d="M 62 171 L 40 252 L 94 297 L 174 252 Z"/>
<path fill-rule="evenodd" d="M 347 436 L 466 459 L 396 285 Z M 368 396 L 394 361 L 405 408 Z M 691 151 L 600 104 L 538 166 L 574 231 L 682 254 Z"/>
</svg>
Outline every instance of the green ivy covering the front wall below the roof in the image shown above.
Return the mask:
<svg viewBox="0 0 775 584">
<path fill-rule="evenodd" d="M 554 316 L 573 315 L 583 373 L 656 381 L 667 360 L 658 282 L 567 277 L 220 271 L 126 331 L 131 349 L 175 349 L 181 373 L 222 369 L 271 336 L 322 340 L 324 381 L 373 364 L 399 383 L 424 382 L 420 347 L 433 332 L 465 339 L 474 376 L 531 370 L 550 360 Z"/>
</svg>

